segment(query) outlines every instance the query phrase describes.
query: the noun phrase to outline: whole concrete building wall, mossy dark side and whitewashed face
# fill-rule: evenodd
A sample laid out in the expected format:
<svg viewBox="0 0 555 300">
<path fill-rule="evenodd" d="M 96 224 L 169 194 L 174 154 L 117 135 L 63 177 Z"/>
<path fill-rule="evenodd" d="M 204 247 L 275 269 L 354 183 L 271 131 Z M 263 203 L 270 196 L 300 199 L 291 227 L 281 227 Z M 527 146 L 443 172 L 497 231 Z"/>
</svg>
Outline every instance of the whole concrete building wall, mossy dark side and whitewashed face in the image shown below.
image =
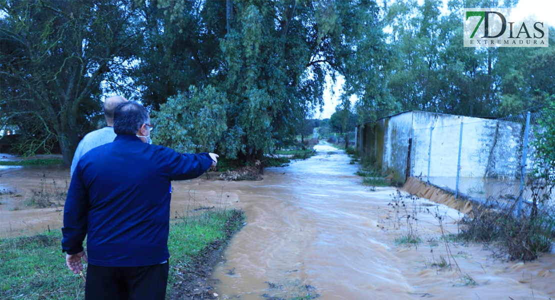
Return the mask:
<svg viewBox="0 0 555 300">
<path fill-rule="evenodd" d="M 359 126 L 357 150 L 384 174 L 404 181 L 409 140 L 409 176 L 456 177 L 461 122 L 461 177 L 514 179 L 522 160 L 522 124 L 467 116 L 407 111 Z M 430 129 L 432 133 L 431 160 Z"/>
</svg>

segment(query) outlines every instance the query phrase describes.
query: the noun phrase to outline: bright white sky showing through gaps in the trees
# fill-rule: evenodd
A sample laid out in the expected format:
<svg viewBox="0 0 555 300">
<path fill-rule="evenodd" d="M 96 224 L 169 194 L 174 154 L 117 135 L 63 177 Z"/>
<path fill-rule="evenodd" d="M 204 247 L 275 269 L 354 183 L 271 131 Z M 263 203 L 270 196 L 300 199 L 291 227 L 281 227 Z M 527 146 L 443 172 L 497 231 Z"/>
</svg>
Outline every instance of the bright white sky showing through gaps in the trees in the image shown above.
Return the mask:
<svg viewBox="0 0 555 300">
<path fill-rule="evenodd" d="M 423 2 L 424 0 L 418 0 L 420 4 Z M 443 6 L 443 13 L 447 13 L 447 0 L 443 0 Z M 512 17 L 517 19 L 535 16 L 534 19 L 546 22 L 548 26 L 555 26 L 555 0 L 520 0 L 517 6 L 514 7 L 512 14 Z M 550 45 L 549 47 L 552 46 Z M 327 87 L 324 91 L 324 111 L 320 113 L 320 109 L 318 108 L 313 118 L 326 119 L 330 118 L 331 114 L 335 113 L 335 106 L 339 104 L 342 85 L 344 83 L 345 80 L 340 76 L 338 76 L 336 84 L 332 84 L 331 79 L 328 78 Z M 351 103 L 355 101 L 356 98 L 351 97 Z"/>
</svg>

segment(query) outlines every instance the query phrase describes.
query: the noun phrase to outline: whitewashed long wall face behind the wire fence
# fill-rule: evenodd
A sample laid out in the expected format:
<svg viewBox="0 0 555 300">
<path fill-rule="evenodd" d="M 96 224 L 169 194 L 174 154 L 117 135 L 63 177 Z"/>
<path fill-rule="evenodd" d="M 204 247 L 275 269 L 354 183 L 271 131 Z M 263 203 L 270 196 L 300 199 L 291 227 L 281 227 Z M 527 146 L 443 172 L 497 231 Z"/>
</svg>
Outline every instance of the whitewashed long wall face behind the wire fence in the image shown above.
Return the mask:
<svg viewBox="0 0 555 300">
<path fill-rule="evenodd" d="M 427 175 L 430 128 L 430 176 L 456 177 L 461 145 L 461 177 L 512 177 L 521 160 L 522 125 L 508 121 L 414 112 L 413 175 Z"/>
</svg>

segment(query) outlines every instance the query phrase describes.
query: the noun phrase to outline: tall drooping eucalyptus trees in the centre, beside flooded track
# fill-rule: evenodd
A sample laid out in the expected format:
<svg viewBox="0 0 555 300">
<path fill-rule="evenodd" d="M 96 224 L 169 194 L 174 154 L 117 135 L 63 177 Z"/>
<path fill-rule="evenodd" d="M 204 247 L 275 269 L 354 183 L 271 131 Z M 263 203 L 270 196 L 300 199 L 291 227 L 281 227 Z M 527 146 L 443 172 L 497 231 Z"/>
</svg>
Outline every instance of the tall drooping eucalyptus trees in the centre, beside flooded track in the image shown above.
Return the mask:
<svg viewBox="0 0 555 300">
<path fill-rule="evenodd" d="M 148 104 L 171 116 L 180 111 L 165 110 L 166 99 L 191 86 L 223 94 L 226 129 L 216 151 L 255 159 L 281 145 L 323 104 L 326 76 L 341 74 L 350 93 L 374 97 L 364 89 L 380 73 L 380 55 L 372 52 L 384 49 L 375 2 L 158 0 L 153 6 L 148 17 L 157 25 L 147 32 L 134 80 Z M 172 143 L 184 144 L 186 135 Z M 239 145 L 230 147 L 230 136 Z"/>
</svg>

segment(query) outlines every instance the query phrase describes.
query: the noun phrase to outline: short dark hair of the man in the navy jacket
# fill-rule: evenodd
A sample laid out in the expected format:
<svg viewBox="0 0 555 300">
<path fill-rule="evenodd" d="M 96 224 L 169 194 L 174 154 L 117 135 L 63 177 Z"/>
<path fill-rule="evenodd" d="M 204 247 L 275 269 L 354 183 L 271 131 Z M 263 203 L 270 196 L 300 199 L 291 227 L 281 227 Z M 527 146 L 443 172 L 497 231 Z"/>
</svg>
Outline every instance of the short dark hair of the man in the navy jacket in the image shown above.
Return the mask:
<svg viewBox="0 0 555 300">
<path fill-rule="evenodd" d="M 137 134 L 140 126 L 148 123 L 148 111 L 143 105 L 128 101 L 114 111 L 115 134 Z"/>
</svg>

